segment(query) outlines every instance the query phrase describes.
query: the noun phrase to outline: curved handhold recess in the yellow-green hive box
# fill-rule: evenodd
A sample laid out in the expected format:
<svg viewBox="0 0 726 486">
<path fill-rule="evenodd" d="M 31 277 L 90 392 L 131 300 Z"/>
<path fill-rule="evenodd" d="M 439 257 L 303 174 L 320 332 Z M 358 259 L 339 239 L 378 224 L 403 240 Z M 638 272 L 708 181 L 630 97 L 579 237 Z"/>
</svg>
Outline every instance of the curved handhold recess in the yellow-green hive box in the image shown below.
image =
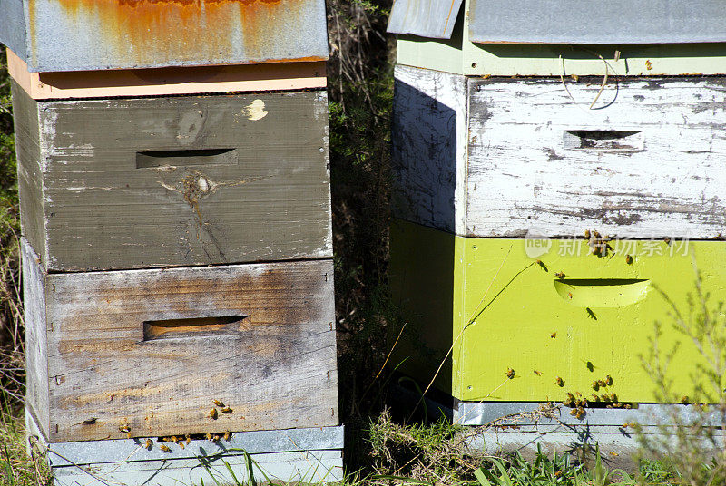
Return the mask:
<svg viewBox="0 0 726 486">
<path fill-rule="evenodd" d="M 643 278 L 564 278 L 554 280 L 562 299 L 576 307 L 623 307 L 648 295 L 650 280 Z"/>
</svg>

